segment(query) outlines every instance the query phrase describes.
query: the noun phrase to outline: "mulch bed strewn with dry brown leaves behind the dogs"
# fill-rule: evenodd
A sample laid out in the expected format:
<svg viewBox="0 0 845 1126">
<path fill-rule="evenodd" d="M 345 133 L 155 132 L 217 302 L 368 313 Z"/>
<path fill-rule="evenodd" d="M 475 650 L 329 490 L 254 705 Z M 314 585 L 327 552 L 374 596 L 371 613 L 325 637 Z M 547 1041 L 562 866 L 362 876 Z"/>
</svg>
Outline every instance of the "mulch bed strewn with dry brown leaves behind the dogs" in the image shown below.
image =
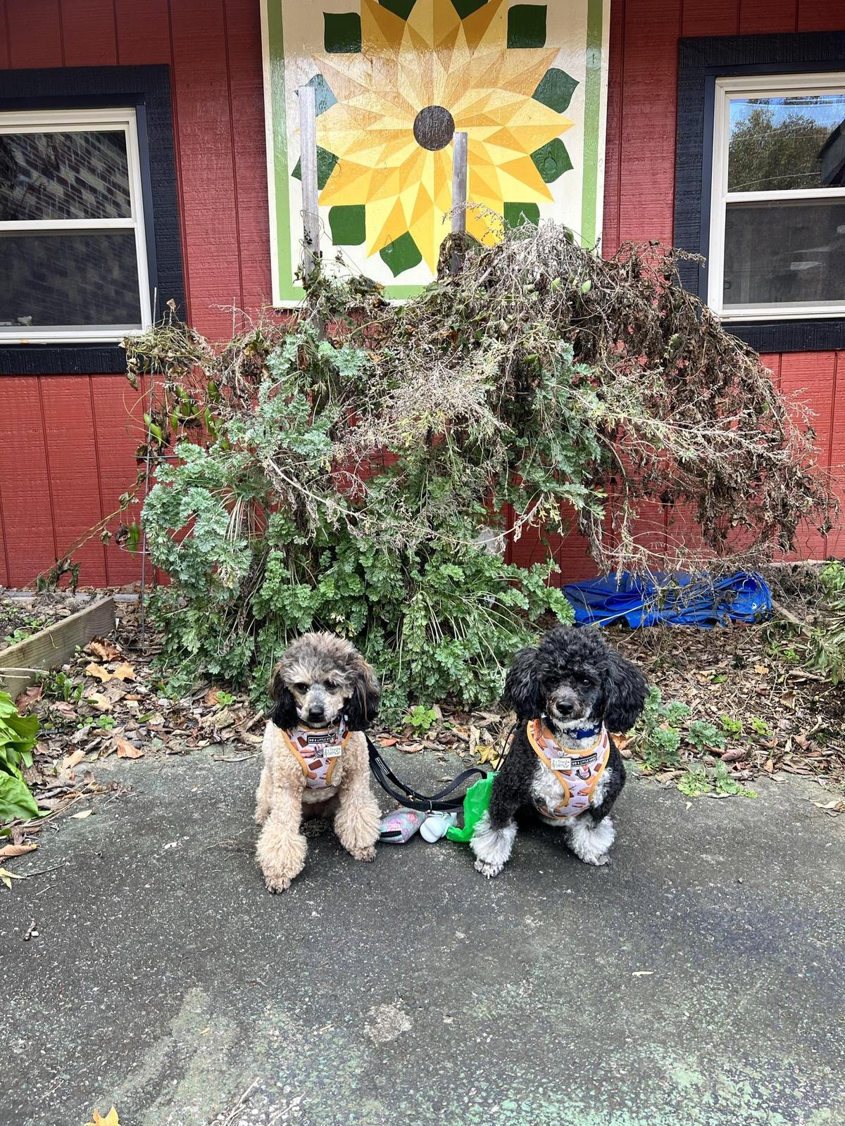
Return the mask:
<svg viewBox="0 0 845 1126">
<path fill-rule="evenodd" d="M 66 602 L 59 600 L 56 613 L 63 608 Z M 607 636 L 660 688 L 664 701 L 678 699 L 690 706 L 691 721 L 720 726 L 727 716 L 742 725 L 741 733 L 726 736 L 723 752 L 684 743 L 682 767 L 657 771 L 658 783 L 671 785 L 694 760 L 713 765 L 721 758 L 731 777 L 741 781 L 795 774 L 837 793 L 845 788 L 845 690 L 797 665 L 788 646 L 771 643 L 766 626 L 614 627 Z M 96 760 L 186 754 L 208 747 L 221 761 L 260 753 L 264 716 L 246 694 L 203 682 L 181 699 L 169 699 L 153 664 L 154 635 L 148 633 L 143 649 L 139 642 L 137 606 L 123 604 L 115 636 L 96 638 L 61 673 L 18 698 L 21 711 L 35 712 L 42 722 L 27 780 L 39 805 L 53 815 L 109 788 L 117 797 L 126 793 L 131 770 L 122 772 L 121 783 L 104 787 L 90 769 Z M 496 762 L 513 716 L 498 707 L 469 713 L 443 705 L 435 712 L 437 721 L 425 733 L 399 725 L 377 731 L 376 738 L 408 754 L 427 752 L 433 784 L 448 776 L 446 752 L 468 763 Z M 623 753 L 638 757 L 635 738 Z M 838 799 L 824 804 L 831 811 L 845 808 Z M 14 825 L 12 840 L 26 839 L 42 824 Z"/>
</svg>

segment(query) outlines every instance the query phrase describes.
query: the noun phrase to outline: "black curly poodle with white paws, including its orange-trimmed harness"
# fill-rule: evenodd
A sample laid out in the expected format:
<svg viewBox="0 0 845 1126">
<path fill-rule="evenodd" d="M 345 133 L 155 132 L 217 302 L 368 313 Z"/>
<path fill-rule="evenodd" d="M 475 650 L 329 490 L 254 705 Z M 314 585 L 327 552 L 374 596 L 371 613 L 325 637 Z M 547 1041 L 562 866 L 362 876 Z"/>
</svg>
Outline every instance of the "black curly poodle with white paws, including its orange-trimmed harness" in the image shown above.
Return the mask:
<svg viewBox="0 0 845 1126">
<path fill-rule="evenodd" d="M 639 669 L 595 628 L 557 626 L 516 654 L 504 698 L 517 730 L 470 842 L 478 872 L 489 878 L 505 867 L 523 806 L 562 828 L 581 860 L 607 863 L 615 837 L 610 812 L 625 784 L 610 732 L 633 726 L 646 692 Z"/>
</svg>

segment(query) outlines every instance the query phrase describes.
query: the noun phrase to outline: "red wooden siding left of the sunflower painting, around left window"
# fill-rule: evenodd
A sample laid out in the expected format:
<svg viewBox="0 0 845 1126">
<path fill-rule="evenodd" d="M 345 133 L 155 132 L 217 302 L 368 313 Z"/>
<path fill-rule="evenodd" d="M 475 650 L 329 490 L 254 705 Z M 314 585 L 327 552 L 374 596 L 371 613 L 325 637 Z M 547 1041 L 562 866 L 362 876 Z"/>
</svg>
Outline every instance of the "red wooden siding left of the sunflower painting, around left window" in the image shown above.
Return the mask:
<svg viewBox="0 0 845 1126">
<path fill-rule="evenodd" d="M 0 0 L 2 68 L 133 63 L 170 64 L 188 311 L 228 334 L 231 306 L 270 295 L 258 0 Z M 139 399 L 121 374 L 0 376 L 0 584 L 32 582 L 116 509 Z M 98 539 L 77 557 L 84 584 L 139 574 Z"/>
</svg>

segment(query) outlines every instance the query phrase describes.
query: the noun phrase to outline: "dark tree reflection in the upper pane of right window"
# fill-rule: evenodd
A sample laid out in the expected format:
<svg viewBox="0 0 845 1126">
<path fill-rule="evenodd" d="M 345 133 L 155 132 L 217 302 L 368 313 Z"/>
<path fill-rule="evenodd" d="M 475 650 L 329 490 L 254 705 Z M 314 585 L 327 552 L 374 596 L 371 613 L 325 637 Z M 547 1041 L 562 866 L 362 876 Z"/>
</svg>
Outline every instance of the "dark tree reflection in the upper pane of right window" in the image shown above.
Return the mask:
<svg viewBox="0 0 845 1126">
<path fill-rule="evenodd" d="M 830 131 L 804 114 L 775 125 L 768 106 L 755 106 L 731 132 L 729 191 L 789 191 L 821 187 L 819 150 Z"/>
</svg>

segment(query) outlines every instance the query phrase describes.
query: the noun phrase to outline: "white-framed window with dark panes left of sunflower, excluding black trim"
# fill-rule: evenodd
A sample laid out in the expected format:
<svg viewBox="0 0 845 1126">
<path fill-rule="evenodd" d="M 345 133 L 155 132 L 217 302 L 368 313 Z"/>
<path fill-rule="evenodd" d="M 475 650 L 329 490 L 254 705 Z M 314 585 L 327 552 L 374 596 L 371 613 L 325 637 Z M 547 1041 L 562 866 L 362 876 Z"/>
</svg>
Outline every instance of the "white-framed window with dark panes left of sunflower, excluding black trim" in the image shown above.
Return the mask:
<svg viewBox="0 0 845 1126">
<path fill-rule="evenodd" d="M 0 345 L 151 322 L 135 110 L 0 113 Z"/>
</svg>

